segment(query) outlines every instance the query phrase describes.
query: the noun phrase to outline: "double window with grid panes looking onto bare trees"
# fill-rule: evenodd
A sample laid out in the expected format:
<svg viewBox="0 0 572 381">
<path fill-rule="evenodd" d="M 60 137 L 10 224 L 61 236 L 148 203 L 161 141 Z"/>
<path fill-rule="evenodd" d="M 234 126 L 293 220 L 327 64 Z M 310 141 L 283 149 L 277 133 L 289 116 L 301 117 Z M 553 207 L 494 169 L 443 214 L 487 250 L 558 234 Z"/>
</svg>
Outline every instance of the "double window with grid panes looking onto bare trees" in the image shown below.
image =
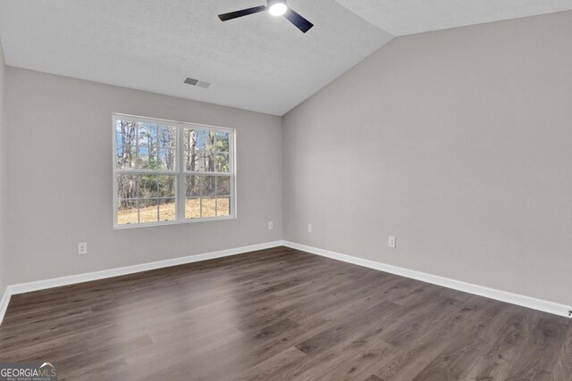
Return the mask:
<svg viewBox="0 0 572 381">
<path fill-rule="evenodd" d="M 234 129 L 114 114 L 114 228 L 236 216 Z"/>
</svg>

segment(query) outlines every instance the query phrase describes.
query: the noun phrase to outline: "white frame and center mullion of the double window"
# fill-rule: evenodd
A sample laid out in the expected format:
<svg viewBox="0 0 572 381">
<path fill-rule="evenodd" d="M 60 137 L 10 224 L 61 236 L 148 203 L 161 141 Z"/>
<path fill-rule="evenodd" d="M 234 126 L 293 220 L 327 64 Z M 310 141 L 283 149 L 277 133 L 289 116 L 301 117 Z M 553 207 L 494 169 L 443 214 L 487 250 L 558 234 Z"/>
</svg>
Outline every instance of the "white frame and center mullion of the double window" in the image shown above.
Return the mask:
<svg viewBox="0 0 572 381">
<path fill-rule="evenodd" d="M 176 128 L 177 131 L 177 155 L 175 158 L 176 166 L 175 170 L 122 170 L 117 168 L 117 129 L 116 120 L 129 120 L 134 122 L 143 123 L 159 123 L 167 124 L 170 127 Z M 183 141 L 183 129 L 184 128 L 195 128 L 203 129 L 207 131 L 217 131 L 226 132 L 229 134 L 229 172 L 194 172 L 185 171 L 184 168 L 184 141 Z M 145 227 L 156 227 L 164 225 L 178 225 L 196 222 L 206 222 L 206 221 L 220 221 L 225 219 L 236 219 L 237 218 L 237 201 L 236 201 L 236 128 L 226 128 L 218 126 L 209 126 L 205 124 L 190 123 L 184 121 L 175 120 L 163 120 L 157 118 L 141 117 L 136 115 L 128 115 L 122 113 L 112 114 L 112 131 L 113 131 L 113 183 L 114 183 L 114 229 L 124 229 L 124 228 L 145 228 Z M 177 205 L 176 219 L 168 221 L 153 221 L 153 222 L 138 222 L 134 224 L 119 224 L 117 219 L 119 195 L 117 177 L 122 174 L 132 174 L 132 175 L 170 175 L 176 176 L 176 191 L 175 200 Z M 220 217 L 201 217 L 198 219 L 186 219 L 185 218 L 185 202 L 186 202 L 186 189 L 185 189 L 185 177 L 187 176 L 230 176 L 231 178 L 231 201 L 230 208 L 231 213 L 228 216 Z"/>
</svg>

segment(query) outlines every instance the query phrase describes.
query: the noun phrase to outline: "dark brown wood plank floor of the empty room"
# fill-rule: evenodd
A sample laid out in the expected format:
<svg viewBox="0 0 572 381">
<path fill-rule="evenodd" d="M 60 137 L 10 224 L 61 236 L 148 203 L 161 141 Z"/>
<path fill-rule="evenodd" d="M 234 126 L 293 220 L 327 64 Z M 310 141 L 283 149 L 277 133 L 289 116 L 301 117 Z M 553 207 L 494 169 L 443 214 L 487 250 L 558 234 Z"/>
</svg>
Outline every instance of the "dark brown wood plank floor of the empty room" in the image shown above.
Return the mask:
<svg viewBox="0 0 572 381">
<path fill-rule="evenodd" d="M 572 320 L 277 247 L 14 295 L 60 380 L 572 380 Z"/>
</svg>

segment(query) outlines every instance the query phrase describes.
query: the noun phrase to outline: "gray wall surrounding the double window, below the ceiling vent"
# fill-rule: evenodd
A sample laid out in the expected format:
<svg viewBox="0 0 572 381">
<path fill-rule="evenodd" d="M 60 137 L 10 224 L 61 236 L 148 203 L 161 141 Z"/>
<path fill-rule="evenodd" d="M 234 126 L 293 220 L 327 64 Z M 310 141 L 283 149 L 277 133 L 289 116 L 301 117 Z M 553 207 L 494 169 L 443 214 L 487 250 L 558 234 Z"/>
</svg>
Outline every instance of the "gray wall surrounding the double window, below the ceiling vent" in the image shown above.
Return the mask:
<svg viewBox="0 0 572 381">
<path fill-rule="evenodd" d="M 6 85 L 8 284 L 282 238 L 281 118 L 12 67 Z M 114 230 L 112 112 L 237 128 L 238 219 Z"/>
</svg>

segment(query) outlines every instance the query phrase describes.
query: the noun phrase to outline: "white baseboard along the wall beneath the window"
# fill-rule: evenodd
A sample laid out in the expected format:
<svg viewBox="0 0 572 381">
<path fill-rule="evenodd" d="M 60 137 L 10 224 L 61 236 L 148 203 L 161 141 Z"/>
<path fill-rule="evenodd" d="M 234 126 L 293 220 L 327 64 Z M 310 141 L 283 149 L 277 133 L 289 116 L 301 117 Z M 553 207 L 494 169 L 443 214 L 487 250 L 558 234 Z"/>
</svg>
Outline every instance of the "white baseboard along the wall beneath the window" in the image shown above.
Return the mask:
<svg viewBox="0 0 572 381">
<path fill-rule="evenodd" d="M 38 280 L 35 282 L 21 283 L 7 287 L 9 294 L 23 294 L 32 291 L 45 290 L 59 286 L 74 285 L 76 283 L 89 282 L 91 280 L 105 279 L 106 277 L 119 277 L 122 275 L 133 274 L 136 272 L 147 271 L 150 269 L 162 269 L 165 267 L 177 266 L 186 263 L 213 260 L 215 258 L 229 257 L 231 255 L 255 252 L 257 250 L 269 249 L 271 247 L 281 246 L 282 241 L 267 242 L 265 244 L 251 244 L 248 246 L 236 247 L 233 249 L 221 250 L 218 252 L 202 253 L 196 255 L 188 255 L 185 257 L 172 258 L 164 261 L 155 261 L 142 263 L 139 265 L 126 266 L 116 269 L 104 269 L 101 271 L 88 272 L 84 274 L 71 275 L 68 277 L 55 277 L 52 279 Z"/>
</svg>

